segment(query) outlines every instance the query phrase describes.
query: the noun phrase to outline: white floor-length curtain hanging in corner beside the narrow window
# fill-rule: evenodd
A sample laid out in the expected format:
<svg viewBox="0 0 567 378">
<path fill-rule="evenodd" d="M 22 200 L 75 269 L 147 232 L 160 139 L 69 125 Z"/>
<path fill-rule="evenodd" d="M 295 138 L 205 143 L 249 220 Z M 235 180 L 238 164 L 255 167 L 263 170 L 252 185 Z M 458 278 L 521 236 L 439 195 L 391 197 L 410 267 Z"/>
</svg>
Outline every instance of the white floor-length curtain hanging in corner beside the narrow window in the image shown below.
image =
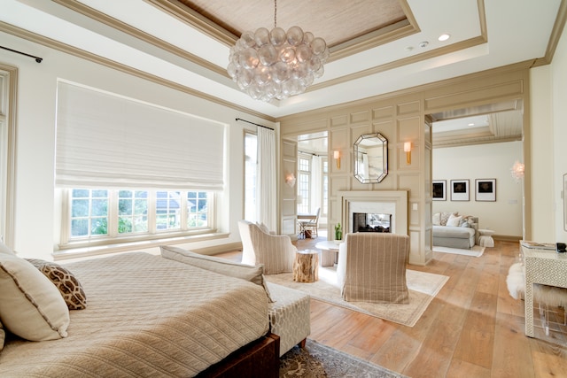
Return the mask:
<svg viewBox="0 0 567 378">
<path fill-rule="evenodd" d="M 266 127 L 258 127 L 257 177 L 256 219 L 275 231 L 277 229 L 276 132 Z"/>
</svg>

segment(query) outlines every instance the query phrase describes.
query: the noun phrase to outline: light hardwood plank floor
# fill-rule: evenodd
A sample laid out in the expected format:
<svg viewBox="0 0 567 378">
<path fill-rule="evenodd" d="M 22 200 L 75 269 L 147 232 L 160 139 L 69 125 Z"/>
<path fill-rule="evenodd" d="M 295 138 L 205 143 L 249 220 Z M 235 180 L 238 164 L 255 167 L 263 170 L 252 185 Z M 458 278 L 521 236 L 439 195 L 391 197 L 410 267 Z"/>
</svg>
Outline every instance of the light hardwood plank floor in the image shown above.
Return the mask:
<svg viewBox="0 0 567 378">
<path fill-rule="evenodd" d="M 506 286 L 518 251 L 496 241 L 480 258 L 434 252 L 427 266 L 408 266 L 450 277 L 413 328 L 312 299 L 309 338 L 416 378 L 567 377 L 564 334 L 536 328 L 538 338 L 524 336 L 524 302 Z"/>
</svg>

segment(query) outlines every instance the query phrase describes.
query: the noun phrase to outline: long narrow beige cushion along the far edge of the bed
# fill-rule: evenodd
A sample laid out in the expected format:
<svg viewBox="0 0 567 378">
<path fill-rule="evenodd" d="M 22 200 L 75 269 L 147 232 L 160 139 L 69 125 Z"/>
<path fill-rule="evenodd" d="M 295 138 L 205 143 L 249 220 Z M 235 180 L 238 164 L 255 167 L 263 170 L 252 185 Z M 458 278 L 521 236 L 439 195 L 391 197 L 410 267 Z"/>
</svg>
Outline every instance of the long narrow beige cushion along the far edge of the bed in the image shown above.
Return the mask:
<svg viewBox="0 0 567 378">
<path fill-rule="evenodd" d="M 226 258 L 215 258 L 214 256 L 201 255 L 199 253 L 183 250 L 183 248 L 161 245 L 161 256 L 170 260 L 180 261 L 201 269 L 210 270 L 215 273 L 228 275 L 230 277 L 241 278 L 246 281 L 260 285 L 266 290 L 268 300 L 273 302 L 269 295 L 268 285 L 264 280 L 264 266 L 250 266 L 235 263 Z"/>
</svg>

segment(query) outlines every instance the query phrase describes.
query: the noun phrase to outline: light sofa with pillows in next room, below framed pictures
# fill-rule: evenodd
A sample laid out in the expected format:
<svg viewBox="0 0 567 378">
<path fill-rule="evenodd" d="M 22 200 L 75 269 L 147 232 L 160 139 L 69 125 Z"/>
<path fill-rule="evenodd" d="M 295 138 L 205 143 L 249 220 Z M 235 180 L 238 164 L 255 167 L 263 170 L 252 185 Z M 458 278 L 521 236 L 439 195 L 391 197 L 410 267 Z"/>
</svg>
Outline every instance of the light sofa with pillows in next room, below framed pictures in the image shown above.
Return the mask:
<svg viewBox="0 0 567 378">
<path fill-rule="evenodd" d="M 437 212 L 432 218 L 433 245 L 470 250 L 478 240 L 478 217 Z"/>
</svg>

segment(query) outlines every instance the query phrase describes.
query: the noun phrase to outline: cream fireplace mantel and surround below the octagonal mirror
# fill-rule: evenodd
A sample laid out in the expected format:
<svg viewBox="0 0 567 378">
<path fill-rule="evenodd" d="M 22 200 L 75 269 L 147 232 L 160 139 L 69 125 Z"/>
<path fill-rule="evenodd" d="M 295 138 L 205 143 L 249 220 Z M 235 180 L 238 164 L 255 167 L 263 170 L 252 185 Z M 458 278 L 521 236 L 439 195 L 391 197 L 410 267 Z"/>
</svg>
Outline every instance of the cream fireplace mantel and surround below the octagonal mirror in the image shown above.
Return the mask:
<svg viewBox="0 0 567 378">
<path fill-rule="evenodd" d="M 353 232 L 353 209 L 392 213 L 392 233 L 408 235 L 408 190 L 346 190 L 338 192 L 338 208 L 345 232 Z"/>
</svg>

